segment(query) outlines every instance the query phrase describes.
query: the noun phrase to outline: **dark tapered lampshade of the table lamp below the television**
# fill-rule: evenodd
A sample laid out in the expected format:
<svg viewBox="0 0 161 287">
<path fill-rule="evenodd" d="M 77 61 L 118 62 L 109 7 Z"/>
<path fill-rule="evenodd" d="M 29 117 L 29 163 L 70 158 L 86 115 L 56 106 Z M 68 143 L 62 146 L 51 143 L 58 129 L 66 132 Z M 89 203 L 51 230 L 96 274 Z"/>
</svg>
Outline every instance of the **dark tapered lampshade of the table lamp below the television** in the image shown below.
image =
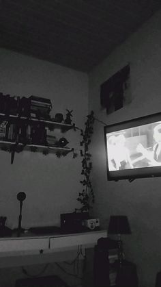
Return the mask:
<svg viewBox="0 0 161 287">
<path fill-rule="evenodd" d="M 131 234 L 128 217 L 124 215 L 111 216 L 108 234 Z"/>
</svg>

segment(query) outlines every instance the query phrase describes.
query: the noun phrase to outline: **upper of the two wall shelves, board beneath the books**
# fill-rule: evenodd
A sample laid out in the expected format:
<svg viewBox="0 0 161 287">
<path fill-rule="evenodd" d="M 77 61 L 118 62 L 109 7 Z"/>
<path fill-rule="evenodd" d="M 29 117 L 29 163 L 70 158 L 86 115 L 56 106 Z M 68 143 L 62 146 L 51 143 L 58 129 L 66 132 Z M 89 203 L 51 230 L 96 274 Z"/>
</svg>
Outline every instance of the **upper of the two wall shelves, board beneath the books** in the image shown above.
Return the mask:
<svg viewBox="0 0 161 287">
<path fill-rule="evenodd" d="M 15 120 L 15 121 L 28 121 L 31 124 L 36 124 L 36 123 L 42 123 L 42 125 L 45 125 L 48 128 L 51 129 L 61 129 L 61 132 L 67 132 L 69 129 L 73 128 L 73 125 L 68 125 L 66 123 L 58 123 L 55 121 L 46 121 L 46 120 L 41 120 L 38 118 L 27 118 L 27 116 L 18 116 L 18 115 L 14 115 L 14 114 L 2 114 L 0 113 L 0 118 L 2 118 L 3 120 Z"/>
</svg>

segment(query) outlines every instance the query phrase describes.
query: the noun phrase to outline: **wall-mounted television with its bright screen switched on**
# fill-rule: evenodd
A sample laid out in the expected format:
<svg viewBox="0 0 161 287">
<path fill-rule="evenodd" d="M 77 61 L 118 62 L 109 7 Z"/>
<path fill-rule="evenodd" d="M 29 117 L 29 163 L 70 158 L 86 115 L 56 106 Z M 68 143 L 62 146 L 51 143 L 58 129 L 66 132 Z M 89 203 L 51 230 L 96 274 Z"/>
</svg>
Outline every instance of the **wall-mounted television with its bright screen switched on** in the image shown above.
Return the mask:
<svg viewBox="0 0 161 287">
<path fill-rule="evenodd" d="M 161 112 L 104 127 L 108 180 L 161 176 Z"/>
</svg>

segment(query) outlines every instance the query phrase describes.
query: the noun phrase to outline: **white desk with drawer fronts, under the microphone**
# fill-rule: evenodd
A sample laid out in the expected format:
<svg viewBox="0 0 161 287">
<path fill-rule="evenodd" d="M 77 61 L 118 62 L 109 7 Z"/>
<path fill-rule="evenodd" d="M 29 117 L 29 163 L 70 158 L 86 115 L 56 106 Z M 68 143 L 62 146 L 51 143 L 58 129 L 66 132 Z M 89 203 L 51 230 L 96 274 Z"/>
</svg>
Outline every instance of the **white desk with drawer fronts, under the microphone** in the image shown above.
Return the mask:
<svg viewBox="0 0 161 287">
<path fill-rule="evenodd" d="M 77 234 L 55 234 L 0 238 L 0 268 L 44 264 L 72 260 L 79 245 L 83 250 L 92 248 L 101 237 L 106 237 L 106 230 Z"/>
</svg>

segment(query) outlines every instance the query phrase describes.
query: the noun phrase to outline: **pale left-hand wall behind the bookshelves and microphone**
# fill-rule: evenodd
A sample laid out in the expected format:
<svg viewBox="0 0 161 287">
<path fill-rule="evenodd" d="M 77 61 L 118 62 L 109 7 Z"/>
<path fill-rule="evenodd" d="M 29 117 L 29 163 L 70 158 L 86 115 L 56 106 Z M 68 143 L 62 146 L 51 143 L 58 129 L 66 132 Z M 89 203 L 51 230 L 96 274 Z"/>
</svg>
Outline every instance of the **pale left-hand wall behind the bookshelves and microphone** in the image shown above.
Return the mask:
<svg viewBox="0 0 161 287">
<path fill-rule="evenodd" d="M 0 49 L 0 92 L 20 97 L 35 95 L 52 101 L 51 116 L 73 110 L 73 123 L 83 128 L 88 108 L 88 78 L 85 73 Z M 78 152 L 80 133 L 65 136 Z M 23 227 L 59 225 L 63 212 L 80 207 L 76 198 L 81 191 L 81 158 L 42 155 L 23 151 L 10 164 L 10 153 L 0 151 L 0 215 L 8 217 L 8 226 L 17 227 L 19 203 L 16 195 L 27 194 L 23 204 Z"/>
</svg>

